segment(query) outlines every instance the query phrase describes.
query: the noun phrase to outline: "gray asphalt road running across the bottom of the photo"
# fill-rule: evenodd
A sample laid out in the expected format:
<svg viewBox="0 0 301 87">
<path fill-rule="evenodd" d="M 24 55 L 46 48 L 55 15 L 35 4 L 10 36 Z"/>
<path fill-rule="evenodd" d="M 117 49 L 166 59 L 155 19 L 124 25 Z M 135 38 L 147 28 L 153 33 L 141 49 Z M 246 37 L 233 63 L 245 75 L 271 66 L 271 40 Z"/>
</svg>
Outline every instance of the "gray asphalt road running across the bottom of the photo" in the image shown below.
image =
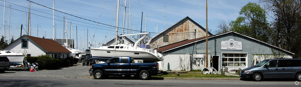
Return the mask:
<svg viewBox="0 0 301 87">
<path fill-rule="evenodd" d="M 62 78 L 62 77 L 22 77 L 0 76 L 0 85 L 3 87 L 23 86 L 64 86 L 64 87 L 300 87 L 295 85 L 293 79 L 267 79 L 262 82 L 250 80 L 176 80 L 176 79 L 152 79 L 140 80 L 139 78 L 118 77 L 96 80 L 94 78 Z"/>
</svg>

